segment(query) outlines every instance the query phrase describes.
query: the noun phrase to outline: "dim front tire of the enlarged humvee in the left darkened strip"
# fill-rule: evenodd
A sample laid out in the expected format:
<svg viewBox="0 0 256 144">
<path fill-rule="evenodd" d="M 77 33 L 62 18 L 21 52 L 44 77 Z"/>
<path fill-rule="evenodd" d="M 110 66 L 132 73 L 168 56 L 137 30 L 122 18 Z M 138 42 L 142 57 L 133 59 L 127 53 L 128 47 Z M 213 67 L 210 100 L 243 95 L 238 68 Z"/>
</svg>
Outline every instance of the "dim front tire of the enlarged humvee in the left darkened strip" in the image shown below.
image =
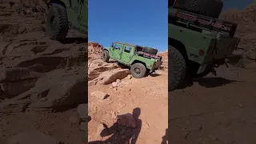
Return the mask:
<svg viewBox="0 0 256 144">
<path fill-rule="evenodd" d="M 51 4 L 46 19 L 46 30 L 52 40 L 62 41 L 66 38 L 69 24 L 64 6 L 56 3 Z"/>
</svg>

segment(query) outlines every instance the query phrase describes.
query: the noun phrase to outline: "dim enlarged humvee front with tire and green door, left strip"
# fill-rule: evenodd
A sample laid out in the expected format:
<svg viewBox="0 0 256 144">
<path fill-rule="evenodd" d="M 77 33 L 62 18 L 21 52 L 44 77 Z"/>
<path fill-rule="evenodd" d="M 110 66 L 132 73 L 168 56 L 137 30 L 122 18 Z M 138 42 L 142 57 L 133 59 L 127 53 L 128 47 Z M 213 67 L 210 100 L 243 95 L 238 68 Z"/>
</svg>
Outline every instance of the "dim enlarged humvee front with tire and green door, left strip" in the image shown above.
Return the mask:
<svg viewBox="0 0 256 144">
<path fill-rule="evenodd" d="M 88 32 L 88 0 L 51 0 L 46 30 L 52 40 L 64 40 L 68 30 Z"/>
</svg>

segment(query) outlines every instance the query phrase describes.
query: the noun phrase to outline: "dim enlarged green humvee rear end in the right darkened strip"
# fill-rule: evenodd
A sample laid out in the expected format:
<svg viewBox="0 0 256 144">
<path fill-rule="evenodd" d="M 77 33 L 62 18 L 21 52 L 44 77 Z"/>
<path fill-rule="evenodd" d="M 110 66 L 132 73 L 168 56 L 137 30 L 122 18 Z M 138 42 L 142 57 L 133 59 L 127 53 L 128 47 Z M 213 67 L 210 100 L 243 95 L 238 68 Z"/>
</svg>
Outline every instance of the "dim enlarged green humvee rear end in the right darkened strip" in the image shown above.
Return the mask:
<svg viewBox="0 0 256 144">
<path fill-rule="evenodd" d="M 224 65 L 238 46 L 237 24 L 219 19 L 222 0 L 169 0 L 169 91 L 187 78 L 204 77 Z"/>
</svg>

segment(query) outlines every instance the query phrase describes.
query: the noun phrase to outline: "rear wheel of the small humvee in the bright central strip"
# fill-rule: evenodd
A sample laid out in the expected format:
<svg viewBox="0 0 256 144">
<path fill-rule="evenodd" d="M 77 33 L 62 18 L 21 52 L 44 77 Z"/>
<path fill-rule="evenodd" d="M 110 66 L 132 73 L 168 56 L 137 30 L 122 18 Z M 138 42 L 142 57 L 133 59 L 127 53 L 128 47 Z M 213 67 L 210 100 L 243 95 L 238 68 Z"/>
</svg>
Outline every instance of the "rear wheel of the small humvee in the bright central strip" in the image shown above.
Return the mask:
<svg viewBox="0 0 256 144">
<path fill-rule="evenodd" d="M 130 67 L 130 73 L 134 78 L 143 78 L 146 76 L 146 66 L 142 63 L 134 63 Z"/>
</svg>

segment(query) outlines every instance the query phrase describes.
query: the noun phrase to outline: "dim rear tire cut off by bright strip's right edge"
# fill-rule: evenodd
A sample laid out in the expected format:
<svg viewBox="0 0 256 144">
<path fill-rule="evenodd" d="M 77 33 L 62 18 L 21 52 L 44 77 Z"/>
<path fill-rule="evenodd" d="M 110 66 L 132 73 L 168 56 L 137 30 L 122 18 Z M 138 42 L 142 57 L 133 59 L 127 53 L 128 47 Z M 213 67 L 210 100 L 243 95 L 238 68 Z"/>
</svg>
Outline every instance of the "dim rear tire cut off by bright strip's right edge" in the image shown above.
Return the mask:
<svg viewBox="0 0 256 144">
<path fill-rule="evenodd" d="M 186 78 L 186 60 L 173 46 L 168 46 L 168 91 L 182 86 Z"/>
</svg>

